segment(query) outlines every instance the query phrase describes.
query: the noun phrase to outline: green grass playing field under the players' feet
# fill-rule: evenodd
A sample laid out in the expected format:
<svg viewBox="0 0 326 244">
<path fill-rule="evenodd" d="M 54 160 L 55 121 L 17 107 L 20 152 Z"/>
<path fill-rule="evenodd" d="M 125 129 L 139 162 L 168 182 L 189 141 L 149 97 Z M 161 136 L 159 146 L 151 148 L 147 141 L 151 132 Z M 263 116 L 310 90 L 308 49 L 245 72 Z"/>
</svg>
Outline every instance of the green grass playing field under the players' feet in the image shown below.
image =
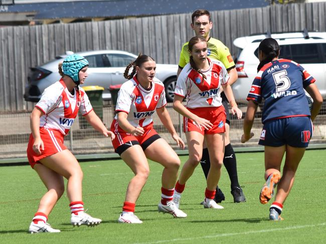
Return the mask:
<svg viewBox="0 0 326 244">
<path fill-rule="evenodd" d="M 103 219 L 96 227 L 72 227 L 67 196 L 49 216 L 60 233 L 28 234 L 45 187 L 30 166 L 0 168 L 0 243 L 324 243 L 326 150 L 306 151 L 287 198 L 283 221 L 269 221 L 269 204 L 258 195 L 264 183 L 263 153 L 237 153 L 238 175 L 247 198 L 233 203 L 230 180 L 223 168 L 220 187 L 226 200 L 219 209 L 204 209 L 205 177 L 200 166 L 187 182 L 181 209 L 188 217 L 173 218 L 157 212 L 162 166 L 150 162 L 150 176 L 137 201 L 136 214 L 142 224 L 120 224 L 117 218 L 131 170 L 122 160 L 82 162 L 83 192 L 88 212 Z M 184 162 L 186 156 L 182 156 Z"/>
</svg>

